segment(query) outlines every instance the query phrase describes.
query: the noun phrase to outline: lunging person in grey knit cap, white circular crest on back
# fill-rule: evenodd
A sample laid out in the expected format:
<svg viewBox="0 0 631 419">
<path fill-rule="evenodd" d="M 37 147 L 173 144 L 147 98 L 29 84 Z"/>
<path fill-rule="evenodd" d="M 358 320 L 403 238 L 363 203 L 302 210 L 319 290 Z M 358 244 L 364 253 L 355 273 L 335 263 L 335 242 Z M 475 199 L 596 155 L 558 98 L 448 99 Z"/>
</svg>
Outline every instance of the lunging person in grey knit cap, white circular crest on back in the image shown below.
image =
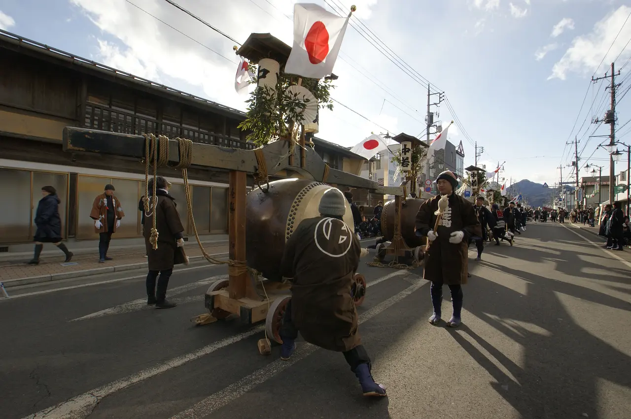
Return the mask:
<svg viewBox="0 0 631 419">
<path fill-rule="evenodd" d="M 281 359 L 290 359 L 300 331 L 307 342 L 342 352 L 365 396 L 386 396 L 386 388 L 370 375 L 370 358 L 357 330 L 351 287 L 362 248 L 343 221 L 345 201 L 336 188 L 324 192 L 320 217 L 300 222 L 285 244 L 281 269 L 292 282 L 292 299 L 280 330 Z"/>
</svg>

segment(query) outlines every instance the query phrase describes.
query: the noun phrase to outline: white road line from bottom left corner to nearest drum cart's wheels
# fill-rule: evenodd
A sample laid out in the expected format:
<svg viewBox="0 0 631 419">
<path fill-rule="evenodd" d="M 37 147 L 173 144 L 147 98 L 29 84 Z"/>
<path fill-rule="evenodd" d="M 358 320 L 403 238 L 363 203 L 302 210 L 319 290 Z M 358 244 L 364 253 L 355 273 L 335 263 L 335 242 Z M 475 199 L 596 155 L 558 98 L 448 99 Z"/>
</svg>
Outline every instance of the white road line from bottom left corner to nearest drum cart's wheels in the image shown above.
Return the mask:
<svg viewBox="0 0 631 419">
<path fill-rule="evenodd" d="M 398 270 L 396 272 L 391 272 L 387 275 L 384 275 L 384 277 L 380 277 L 377 280 L 370 282 L 366 286 L 370 287 L 372 285 L 379 284 L 379 282 L 382 282 L 384 280 L 383 278 L 392 278 L 397 275 L 409 273 L 410 272 L 408 272 L 407 270 Z M 388 299 L 386 301 L 390 301 L 391 299 Z M 368 310 L 366 313 L 363 314 L 363 316 L 367 316 L 370 313 L 373 313 L 374 309 L 376 307 L 379 307 L 381 304 L 384 304 L 384 302 Z M 394 304 L 394 302 L 392 304 Z M 375 314 L 370 314 L 370 316 L 374 315 Z M 117 381 L 110 382 L 109 384 L 105 384 L 105 386 L 90 390 L 72 399 L 59 403 L 56 406 L 51 406 L 50 408 L 40 410 L 37 413 L 33 413 L 32 415 L 25 416 L 22 419 L 85 419 L 86 416 L 90 415 L 90 413 L 103 398 L 111 396 L 117 391 L 121 391 L 126 387 L 132 386 L 133 384 L 144 381 L 151 377 L 155 377 L 158 374 L 167 372 L 168 370 L 181 367 L 188 362 L 204 357 L 209 353 L 215 352 L 216 350 L 221 348 L 225 348 L 228 345 L 232 345 L 232 343 L 237 343 L 241 340 L 249 338 L 250 336 L 254 336 L 264 330 L 265 326 L 264 324 L 261 324 L 260 326 L 256 326 L 250 330 L 239 333 L 239 335 L 230 336 L 228 338 L 220 340 L 219 342 L 215 342 L 211 345 L 199 348 L 194 352 L 187 353 L 186 355 L 181 355 L 172 360 L 168 360 L 163 364 L 158 364 L 153 367 L 141 370 L 139 372 L 136 372 L 136 374 L 132 374 L 131 376 L 127 376 Z"/>
</svg>

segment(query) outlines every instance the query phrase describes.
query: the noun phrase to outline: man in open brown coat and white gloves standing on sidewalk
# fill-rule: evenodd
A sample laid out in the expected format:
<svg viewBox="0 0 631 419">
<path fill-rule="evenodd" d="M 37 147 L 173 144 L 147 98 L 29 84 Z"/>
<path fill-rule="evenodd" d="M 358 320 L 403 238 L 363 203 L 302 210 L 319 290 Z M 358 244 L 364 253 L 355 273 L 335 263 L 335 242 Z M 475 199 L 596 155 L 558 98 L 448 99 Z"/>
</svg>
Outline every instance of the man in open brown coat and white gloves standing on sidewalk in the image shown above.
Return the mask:
<svg viewBox="0 0 631 419">
<path fill-rule="evenodd" d="M 90 218 L 94 220 L 95 232 L 98 232 L 98 262 L 105 263 L 112 260 L 107 257 L 112 234 L 121 226 L 121 219 L 125 216 L 121 201 L 114 196 L 114 185 L 105 185 L 105 192 L 94 198 Z"/>
</svg>

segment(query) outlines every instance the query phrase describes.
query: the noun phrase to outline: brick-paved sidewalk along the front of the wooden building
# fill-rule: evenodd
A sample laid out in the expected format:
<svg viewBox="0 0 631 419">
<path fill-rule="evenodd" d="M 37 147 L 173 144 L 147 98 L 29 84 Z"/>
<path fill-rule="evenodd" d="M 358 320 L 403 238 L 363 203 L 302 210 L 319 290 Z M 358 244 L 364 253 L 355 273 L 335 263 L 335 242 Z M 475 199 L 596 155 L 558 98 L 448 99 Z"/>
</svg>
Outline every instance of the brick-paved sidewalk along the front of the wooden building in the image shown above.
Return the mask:
<svg viewBox="0 0 631 419">
<path fill-rule="evenodd" d="M 209 255 L 227 255 L 228 244 L 225 241 L 202 243 L 204 250 Z M 186 255 L 192 261 L 203 259 L 201 250 L 196 241 L 189 241 L 184 246 Z M 73 250 L 71 250 L 73 251 Z M 44 255 L 40 258 L 39 265 L 27 265 L 32 255 L 22 256 L 21 260 L 0 262 L 0 281 L 4 287 L 17 287 L 20 285 L 39 284 L 54 280 L 87 277 L 89 275 L 99 275 L 101 273 L 122 272 L 146 267 L 147 258 L 144 257 L 144 246 L 125 246 L 117 249 L 110 247 L 107 256 L 114 260 L 98 263 L 98 253 L 95 251 L 77 252 L 69 264 L 65 264 L 64 254 Z"/>
</svg>

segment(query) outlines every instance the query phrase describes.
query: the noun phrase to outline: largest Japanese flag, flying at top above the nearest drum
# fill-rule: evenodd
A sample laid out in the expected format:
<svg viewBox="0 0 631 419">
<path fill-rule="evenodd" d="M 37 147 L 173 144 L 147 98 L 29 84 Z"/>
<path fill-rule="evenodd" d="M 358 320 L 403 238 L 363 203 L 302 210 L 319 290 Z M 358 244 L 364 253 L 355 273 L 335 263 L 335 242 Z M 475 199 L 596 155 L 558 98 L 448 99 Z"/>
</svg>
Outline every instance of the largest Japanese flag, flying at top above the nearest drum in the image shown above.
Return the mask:
<svg viewBox="0 0 631 419">
<path fill-rule="evenodd" d="M 350 16 L 341 18 L 317 4 L 295 4 L 293 47 L 285 72 L 311 79 L 331 74 Z"/>
</svg>

